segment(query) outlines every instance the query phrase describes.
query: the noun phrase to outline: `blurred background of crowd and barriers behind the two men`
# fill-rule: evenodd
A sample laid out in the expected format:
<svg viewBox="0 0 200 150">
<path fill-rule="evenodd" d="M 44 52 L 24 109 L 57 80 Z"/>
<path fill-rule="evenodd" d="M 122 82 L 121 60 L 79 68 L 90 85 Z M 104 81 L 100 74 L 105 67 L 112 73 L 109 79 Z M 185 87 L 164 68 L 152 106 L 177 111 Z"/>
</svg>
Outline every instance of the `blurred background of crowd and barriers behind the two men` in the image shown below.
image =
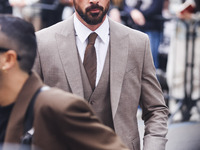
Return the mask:
<svg viewBox="0 0 200 150">
<path fill-rule="evenodd" d="M 0 14 L 21 17 L 35 31 L 73 13 L 69 0 L 0 0 Z M 111 0 L 108 15 L 150 38 L 157 78 L 170 110 L 166 149 L 200 150 L 200 0 Z M 138 119 L 143 138 L 139 107 Z"/>
</svg>

